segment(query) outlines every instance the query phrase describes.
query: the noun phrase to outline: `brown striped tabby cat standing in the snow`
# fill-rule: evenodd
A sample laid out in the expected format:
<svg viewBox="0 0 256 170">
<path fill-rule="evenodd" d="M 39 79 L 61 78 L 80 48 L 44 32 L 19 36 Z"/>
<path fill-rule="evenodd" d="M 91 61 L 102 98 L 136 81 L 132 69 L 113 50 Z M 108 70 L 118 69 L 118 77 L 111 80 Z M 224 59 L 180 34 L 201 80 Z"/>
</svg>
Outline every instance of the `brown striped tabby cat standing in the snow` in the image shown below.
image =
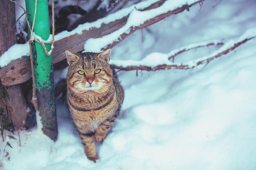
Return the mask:
<svg viewBox="0 0 256 170">
<path fill-rule="evenodd" d="M 101 53 L 65 51 L 67 72 L 67 103 L 79 132 L 85 155 L 98 159 L 94 138 L 102 141 L 119 114 L 124 101 L 124 88 L 109 65 L 111 49 Z"/>
</svg>

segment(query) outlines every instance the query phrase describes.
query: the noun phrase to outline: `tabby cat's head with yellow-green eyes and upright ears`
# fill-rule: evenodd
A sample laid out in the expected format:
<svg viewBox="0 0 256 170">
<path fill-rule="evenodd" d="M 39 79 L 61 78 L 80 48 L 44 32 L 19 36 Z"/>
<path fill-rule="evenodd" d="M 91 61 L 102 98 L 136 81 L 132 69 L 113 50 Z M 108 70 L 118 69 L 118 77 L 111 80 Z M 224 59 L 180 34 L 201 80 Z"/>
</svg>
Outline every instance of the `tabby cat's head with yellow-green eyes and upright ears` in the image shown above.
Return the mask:
<svg viewBox="0 0 256 170">
<path fill-rule="evenodd" d="M 111 49 L 101 53 L 71 53 L 65 51 L 69 69 L 67 86 L 77 93 L 106 91 L 112 84 L 112 70 L 108 64 Z"/>
</svg>

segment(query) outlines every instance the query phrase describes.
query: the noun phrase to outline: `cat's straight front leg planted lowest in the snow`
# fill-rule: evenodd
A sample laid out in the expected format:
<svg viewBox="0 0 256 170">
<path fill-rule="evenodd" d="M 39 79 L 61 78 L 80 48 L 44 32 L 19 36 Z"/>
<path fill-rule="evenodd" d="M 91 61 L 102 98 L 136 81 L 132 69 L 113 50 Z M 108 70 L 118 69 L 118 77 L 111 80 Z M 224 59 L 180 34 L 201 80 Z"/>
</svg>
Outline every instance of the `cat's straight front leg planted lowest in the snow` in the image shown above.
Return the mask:
<svg viewBox="0 0 256 170">
<path fill-rule="evenodd" d="M 94 132 L 87 130 L 83 130 L 83 132 L 80 132 L 79 130 L 79 135 L 84 146 L 85 155 L 89 160 L 96 162 L 98 157 L 94 144 Z"/>
</svg>

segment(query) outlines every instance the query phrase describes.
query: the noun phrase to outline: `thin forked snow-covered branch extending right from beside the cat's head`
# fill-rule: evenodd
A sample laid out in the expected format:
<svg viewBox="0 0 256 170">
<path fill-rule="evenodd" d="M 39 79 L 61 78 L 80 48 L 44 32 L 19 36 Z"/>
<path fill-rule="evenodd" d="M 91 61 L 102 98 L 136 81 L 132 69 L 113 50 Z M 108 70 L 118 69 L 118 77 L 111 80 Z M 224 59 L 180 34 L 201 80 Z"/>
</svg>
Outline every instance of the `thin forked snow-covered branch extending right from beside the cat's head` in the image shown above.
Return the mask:
<svg viewBox="0 0 256 170">
<path fill-rule="evenodd" d="M 191 44 L 186 47 L 182 47 L 180 49 L 176 49 L 171 51 L 168 54 L 165 53 L 151 53 L 146 56 L 143 60 L 134 61 L 134 60 L 112 60 L 110 61 L 111 67 L 116 68 L 118 70 L 123 71 L 131 71 L 131 70 L 144 70 L 144 71 L 157 71 L 157 70 L 165 70 L 165 69 L 190 69 L 195 68 L 201 64 L 207 64 L 211 60 L 214 60 L 222 55 L 233 51 L 241 44 L 252 40 L 256 37 L 256 28 L 247 30 L 243 35 L 240 36 L 237 40 L 230 40 L 223 44 L 223 42 L 215 41 L 215 42 L 202 42 L 198 44 Z M 171 62 L 170 59 L 176 56 L 177 54 L 183 53 L 190 49 L 195 49 L 201 46 L 209 46 L 209 45 L 222 45 L 223 46 L 217 51 L 211 53 L 211 55 L 201 57 L 196 60 L 187 61 L 184 63 L 175 63 Z"/>
</svg>

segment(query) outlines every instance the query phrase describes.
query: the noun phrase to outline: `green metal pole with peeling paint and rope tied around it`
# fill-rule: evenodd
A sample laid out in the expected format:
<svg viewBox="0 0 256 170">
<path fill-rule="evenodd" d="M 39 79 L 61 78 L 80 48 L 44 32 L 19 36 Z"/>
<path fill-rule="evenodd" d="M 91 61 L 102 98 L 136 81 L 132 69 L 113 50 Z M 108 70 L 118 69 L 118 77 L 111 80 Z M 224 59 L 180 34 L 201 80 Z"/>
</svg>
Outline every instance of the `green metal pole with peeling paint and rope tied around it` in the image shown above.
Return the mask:
<svg viewBox="0 0 256 170">
<path fill-rule="evenodd" d="M 26 10 L 29 25 L 32 28 L 35 13 L 35 0 L 26 0 Z M 47 40 L 49 38 L 50 27 L 48 0 L 37 0 L 34 32 L 43 40 Z M 52 55 L 47 56 L 43 46 L 39 42 L 34 41 L 31 43 L 31 46 L 34 64 L 36 97 L 38 101 L 37 110 L 40 112 L 40 121 L 43 125 L 42 130 L 45 135 L 56 141 L 58 137 L 58 128 L 54 96 Z M 45 46 L 49 51 L 51 44 L 45 44 Z"/>
</svg>

